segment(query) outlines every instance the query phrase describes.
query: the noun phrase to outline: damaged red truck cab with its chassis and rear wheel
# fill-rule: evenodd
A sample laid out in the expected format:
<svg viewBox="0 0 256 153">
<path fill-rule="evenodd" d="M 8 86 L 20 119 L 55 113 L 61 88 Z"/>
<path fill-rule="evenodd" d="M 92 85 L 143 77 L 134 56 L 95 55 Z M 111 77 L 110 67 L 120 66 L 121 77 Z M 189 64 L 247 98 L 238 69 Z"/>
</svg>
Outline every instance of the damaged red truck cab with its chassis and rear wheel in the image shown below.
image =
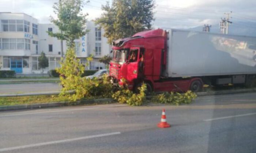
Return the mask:
<svg viewBox="0 0 256 153">
<path fill-rule="evenodd" d="M 147 85 L 147 91 L 201 90 L 200 78 L 166 78 L 167 32 L 162 29 L 139 32 L 131 38 L 113 42 L 113 58 L 109 72 L 112 80 L 136 91 L 141 83 Z"/>
</svg>

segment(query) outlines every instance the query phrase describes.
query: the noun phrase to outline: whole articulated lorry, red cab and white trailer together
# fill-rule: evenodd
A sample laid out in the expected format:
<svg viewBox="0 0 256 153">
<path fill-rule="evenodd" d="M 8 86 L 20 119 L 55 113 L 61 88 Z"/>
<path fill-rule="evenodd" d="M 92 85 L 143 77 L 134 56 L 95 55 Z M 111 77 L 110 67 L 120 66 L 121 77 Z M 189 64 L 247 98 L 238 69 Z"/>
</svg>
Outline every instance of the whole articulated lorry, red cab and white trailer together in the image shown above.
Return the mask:
<svg viewBox="0 0 256 153">
<path fill-rule="evenodd" d="M 177 29 L 139 32 L 113 42 L 112 82 L 137 91 L 198 92 L 203 85 L 251 86 L 256 37 Z"/>
</svg>

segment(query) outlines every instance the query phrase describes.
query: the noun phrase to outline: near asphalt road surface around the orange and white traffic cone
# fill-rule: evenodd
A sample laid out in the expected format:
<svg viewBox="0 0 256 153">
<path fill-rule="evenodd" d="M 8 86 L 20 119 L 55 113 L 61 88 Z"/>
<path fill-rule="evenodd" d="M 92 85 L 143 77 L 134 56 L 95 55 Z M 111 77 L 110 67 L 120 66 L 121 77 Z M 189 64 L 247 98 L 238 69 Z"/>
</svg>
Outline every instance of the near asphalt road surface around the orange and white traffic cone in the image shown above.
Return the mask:
<svg viewBox="0 0 256 153">
<path fill-rule="evenodd" d="M 162 108 L 172 127 L 157 123 Z M 6 153 L 255 153 L 256 93 L 191 105 L 73 106 L 0 112 Z"/>
</svg>

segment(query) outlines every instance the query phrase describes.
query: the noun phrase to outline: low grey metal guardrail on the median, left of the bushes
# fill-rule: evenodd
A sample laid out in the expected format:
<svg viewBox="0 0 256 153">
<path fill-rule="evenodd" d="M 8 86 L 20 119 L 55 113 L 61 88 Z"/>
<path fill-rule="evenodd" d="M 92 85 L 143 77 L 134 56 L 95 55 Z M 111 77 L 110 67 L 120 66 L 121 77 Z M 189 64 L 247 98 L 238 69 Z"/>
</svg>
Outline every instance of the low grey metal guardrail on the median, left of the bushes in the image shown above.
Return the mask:
<svg viewBox="0 0 256 153">
<path fill-rule="evenodd" d="M 19 97 L 19 96 L 37 96 L 37 95 L 58 95 L 61 91 L 44 92 L 44 93 L 23 93 L 23 94 L 0 94 L 0 97 Z M 65 91 L 65 94 L 74 94 L 75 91 Z"/>
</svg>

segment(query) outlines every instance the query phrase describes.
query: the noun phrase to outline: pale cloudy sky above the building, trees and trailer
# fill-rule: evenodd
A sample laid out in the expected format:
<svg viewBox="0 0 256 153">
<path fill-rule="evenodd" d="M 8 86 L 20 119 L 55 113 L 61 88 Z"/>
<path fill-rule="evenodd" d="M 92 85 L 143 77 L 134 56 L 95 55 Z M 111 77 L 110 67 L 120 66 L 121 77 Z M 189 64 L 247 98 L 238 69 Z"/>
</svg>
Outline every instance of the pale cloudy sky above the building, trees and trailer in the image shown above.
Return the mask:
<svg viewBox="0 0 256 153">
<path fill-rule="evenodd" d="M 39 23 L 50 23 L 49 16 L 55 17 L 54 2 L 58 0 L 0 0 L 0 12 L 26 13 L 37 18 Z M 90 0 L 83 12 L 93 20 L 101 15 L 101 5 L 105 4 L 105 0 Z M 217 25 L 226 17 L 224 13 L 230 11 L 233 26 L 246 28 L 249 26 L 245 22 L 256 22 L 256 0 L 155 0 L 155 4 L 155 28 Z"/>
</svg>

